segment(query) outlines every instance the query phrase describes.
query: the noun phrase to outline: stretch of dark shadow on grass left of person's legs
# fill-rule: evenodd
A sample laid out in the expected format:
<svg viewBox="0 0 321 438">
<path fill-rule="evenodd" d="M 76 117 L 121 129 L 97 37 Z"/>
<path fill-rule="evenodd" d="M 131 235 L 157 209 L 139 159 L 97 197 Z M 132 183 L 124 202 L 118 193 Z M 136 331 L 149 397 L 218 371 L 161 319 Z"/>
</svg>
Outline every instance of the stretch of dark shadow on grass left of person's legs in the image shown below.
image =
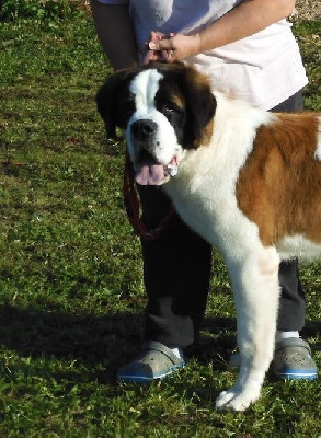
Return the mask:
<svg viewBox="0 0 321 438">
<path fill-rule="evenodd" d="M 105 383 L 114 381 L 116 369 L 137 353 L 142 316 L 72 315 L 0 307 L 0 344 L 22 357 L 72 361 L 104 371 L 95 376 Z M 133 356 L 131 356 L 133 357 Z"/>
</svg>

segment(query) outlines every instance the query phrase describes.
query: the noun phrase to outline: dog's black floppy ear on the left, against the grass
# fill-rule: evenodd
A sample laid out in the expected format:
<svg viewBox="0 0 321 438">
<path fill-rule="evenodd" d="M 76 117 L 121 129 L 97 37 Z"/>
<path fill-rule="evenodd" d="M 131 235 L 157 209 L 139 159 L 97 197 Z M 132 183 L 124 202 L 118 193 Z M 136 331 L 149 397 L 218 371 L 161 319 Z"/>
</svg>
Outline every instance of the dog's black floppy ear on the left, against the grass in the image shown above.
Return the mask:
<svg viewBox="0 0 321 438">
<path fill-rule="evenodd" d="M 126 128 L 128 117 L 126 117 L 126 92 L 128 93 L 127 81 L 131 74 L 129 70 L 121 70 L 112 74 L 96 93 L 96 105 L 102 116 L 107 138 L 115 139 L 116 127 Z"/>
</svg>

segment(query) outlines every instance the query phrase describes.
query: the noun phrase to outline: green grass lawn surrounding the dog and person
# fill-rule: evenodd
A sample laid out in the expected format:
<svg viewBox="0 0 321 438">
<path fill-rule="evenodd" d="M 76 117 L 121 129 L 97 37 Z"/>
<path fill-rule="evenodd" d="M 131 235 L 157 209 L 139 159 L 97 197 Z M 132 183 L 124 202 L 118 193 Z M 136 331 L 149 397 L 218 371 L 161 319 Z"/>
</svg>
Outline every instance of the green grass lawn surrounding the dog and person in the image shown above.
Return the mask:
<svg viewBox="0 0 321 438">
<path fill-rule="evenodd" d="M 321 110 L 320 22 L 297 23 Z M 274 382 L 245 413 L 215 399 L 236 373 L 236 321 L 215 254 L 200 346 L 151 387 L 115 383 L 140 345 L 138 240 L 123 210 L 124 146 L 105 140 L 94 95 L 110 74 L 91 20 L 0 23 L 0 436 L 320 437 L 320 380 Z M 306 338 L 321 368 L 320 262 L 305 265 Z"/>
</svg>

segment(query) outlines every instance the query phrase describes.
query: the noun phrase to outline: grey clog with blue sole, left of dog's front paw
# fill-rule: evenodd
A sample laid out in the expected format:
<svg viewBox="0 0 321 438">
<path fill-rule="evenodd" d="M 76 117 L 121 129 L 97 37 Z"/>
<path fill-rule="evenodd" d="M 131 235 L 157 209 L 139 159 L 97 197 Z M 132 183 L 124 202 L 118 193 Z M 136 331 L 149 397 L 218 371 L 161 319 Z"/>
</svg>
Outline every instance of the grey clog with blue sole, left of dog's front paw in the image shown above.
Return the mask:
<svg viewBox="0 0 321 438">
<path fill-rule="evenodd" d="M 177 358 L 165 345 L 149 341 L 142 344 L 138 357 L 118 370 L 117 379 L 123 382 L 148 383 L 163 379 L 183 367 L 184 359 Z"/>
</svg>

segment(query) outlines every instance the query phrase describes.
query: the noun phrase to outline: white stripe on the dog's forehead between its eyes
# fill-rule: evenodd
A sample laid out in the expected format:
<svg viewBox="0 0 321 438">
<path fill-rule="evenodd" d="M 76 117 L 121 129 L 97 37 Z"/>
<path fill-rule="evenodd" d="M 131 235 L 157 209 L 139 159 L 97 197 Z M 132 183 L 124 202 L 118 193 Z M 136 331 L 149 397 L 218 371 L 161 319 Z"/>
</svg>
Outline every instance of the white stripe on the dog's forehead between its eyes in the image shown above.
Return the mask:
<svg viewBox="0 0 321 438">
<path fill-rule="evenodd" d="M 161 78 L 162 74 L 156 69 L 152 69 L 141 71 L 133 79 L 129 90 L 135 95 L 137 111 L 144 111 L 153 106 L 154 96 L 159 90 L 159 81 Z"/>
</svg>

